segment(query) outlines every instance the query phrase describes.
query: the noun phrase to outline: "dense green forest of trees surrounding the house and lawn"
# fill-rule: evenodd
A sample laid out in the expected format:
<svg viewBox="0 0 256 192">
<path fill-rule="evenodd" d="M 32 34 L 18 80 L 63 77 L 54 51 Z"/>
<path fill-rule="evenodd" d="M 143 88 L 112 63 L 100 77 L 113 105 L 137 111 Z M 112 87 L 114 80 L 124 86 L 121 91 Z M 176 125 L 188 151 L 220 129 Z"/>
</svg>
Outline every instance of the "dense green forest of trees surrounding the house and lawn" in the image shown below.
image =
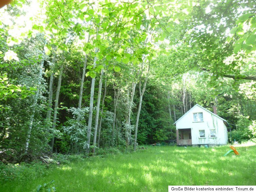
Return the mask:
<svg viewBox="0 0 256 192">
<path fill-rule="evenodd" d="M 256 5 L 15 0 L 0 9 L 0 160 L 173 143 L 196 103 L 256 138 Z"/>
</svg>

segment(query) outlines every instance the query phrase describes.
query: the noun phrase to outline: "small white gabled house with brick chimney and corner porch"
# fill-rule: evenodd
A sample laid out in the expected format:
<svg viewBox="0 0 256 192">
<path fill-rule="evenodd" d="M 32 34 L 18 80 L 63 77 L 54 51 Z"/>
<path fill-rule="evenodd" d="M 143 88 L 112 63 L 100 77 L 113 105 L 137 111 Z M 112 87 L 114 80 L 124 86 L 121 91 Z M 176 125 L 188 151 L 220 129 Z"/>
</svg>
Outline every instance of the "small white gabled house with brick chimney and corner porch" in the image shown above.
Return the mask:
<svg viewBox="0 0 256 192">
<path fill-rule="evenodd" d="M 228 123 L 214 113 L 196 104 L 180 117 L 176 125 L 177 145 L 224 145 L 228 143 Z"/>
</svg>

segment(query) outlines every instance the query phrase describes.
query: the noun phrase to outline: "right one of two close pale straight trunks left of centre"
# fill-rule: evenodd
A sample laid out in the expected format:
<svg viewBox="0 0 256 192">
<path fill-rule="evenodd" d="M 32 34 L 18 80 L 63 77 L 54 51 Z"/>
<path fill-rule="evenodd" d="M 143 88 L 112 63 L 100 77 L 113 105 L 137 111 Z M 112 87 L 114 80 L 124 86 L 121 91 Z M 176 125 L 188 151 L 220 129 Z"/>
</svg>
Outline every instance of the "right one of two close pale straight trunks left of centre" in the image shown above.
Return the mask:
<svg viewBox="0 0 256 192">
<path fill-rule="evenodd" d="M 100 113 L 100 97 L 101 97 L 101 89 L 102 89 L 102 79 L 104 76 L 104 68 L 101 69 L 100 74 L 100 83 L 99 83 L 99 91 L 98 91 L 98 99 L 97 99 L 97 110 L 96 110 L 96 116 L 95 116 L 95 124 L 94 124 L 94 135 L 93 135 L 93 148 L 92 152 L 95 153 L 95 147 L 96 147 L 96 139 L 97 139 L 97 131 L 98 131 L 98 122 L 99 122 L 99 113 Z"/>
</svg>

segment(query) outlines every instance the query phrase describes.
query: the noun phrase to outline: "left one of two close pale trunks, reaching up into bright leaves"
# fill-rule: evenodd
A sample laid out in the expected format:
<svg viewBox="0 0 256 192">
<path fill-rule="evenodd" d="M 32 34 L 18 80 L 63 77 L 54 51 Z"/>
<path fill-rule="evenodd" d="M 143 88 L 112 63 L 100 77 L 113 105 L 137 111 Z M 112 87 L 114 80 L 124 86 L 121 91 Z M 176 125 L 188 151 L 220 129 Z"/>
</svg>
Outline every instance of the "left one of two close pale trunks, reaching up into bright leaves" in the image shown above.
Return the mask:
<svg viewBox="0 0 256 192">
<path fill-rule="evenodd" d="M 98 35 L 98 28 L 97 28 L 97 35 Z M 95 53 L 98 52 L 98 47 L 95 48 Z M 96 67 L 97 57 L 94 57 L 93 60 L 93 68 Z M 90 153 L 90 142 L 91 142 L 91 131 L 92 131 L 92 110 L 93 110 L 93 97 L 94 97 L 94 85 L 95 85 L 95 77 L 92 78 L 92 85 L 91 85 L 91 96 L 90 96 L 90 108 L 89 108 L 89 119 L 88 119 L 88 129 L 87 129 L 87 146 L 86 146 L 86 153 Z"/>
</svg>

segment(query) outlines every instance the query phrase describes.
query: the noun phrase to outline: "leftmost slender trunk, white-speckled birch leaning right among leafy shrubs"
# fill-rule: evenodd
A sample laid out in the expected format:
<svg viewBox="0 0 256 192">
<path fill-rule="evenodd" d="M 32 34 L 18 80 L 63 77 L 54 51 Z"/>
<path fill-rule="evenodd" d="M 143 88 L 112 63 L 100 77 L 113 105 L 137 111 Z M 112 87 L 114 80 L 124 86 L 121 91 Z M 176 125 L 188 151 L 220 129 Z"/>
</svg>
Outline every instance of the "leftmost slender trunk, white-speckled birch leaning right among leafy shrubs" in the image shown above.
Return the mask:
<svg viewBox="0 0 256 192">
<path fill-rule="evenodd" d="M 42 83 L 41 82 L 41 78 L 42 78 L 42 74 L 43 74 L 43 68 L 44 68 L 44 59 L 41 62 L 41 66 L 40 66 L 40 70 L 39 70 L 39 78 L 38 78 L 38 85 L 39 86 L 37 87 L 37 91 L 36 91 L 36 95 L 35 95 L 35 100 L 33 102 L 33 105 L 31 106 L 31 108 L 32 108 L 32 115 L 30 117 L 30 122 L 29 122 L 29 125 L 28 125 L 28 133 L 27 133 L 25 152 L 24 152 L 25 155 L 28 153 L 29 140 L 30 140 L 30 136 L 31 136 L 31 132 L 32 132 L 32 125 L 33 125 L 33 122 L 34 122 L 36 105 L 37 105 L 37 101 L 38 101 L 38 97 L 39 97 L 39 89 L 40 89 L 40 85 Z"/>
</svg>

